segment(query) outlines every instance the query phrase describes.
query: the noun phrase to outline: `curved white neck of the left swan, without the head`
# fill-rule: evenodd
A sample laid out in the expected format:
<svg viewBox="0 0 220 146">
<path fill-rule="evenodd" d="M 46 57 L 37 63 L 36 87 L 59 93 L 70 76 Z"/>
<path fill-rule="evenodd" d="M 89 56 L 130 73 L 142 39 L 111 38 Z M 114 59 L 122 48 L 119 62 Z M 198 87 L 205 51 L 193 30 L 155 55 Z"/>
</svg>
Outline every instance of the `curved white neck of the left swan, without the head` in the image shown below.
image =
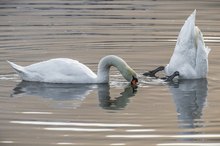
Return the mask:
<svg viewBox="0 0 220 146">
<path fill-rule="evenodd" d="M 109 70 L 111 66 L 116 67 L 123 76 L 125 72 L 124 70 L 128 68 L 127 63 L 121 58 L 114 55 L 106 56 L 100 60 L 98 65 L 98 72 L 97 72 L 98 83 L 108 83 Z"/>
</svg>

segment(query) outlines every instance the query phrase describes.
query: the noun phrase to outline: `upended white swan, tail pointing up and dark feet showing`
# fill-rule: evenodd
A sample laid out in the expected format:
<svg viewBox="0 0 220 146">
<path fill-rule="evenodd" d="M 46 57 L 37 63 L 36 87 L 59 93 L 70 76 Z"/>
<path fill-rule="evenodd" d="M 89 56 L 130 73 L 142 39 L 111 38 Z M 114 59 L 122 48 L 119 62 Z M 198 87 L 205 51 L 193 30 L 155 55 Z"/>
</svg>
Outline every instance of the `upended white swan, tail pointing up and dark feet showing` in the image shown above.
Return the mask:
<svg viewBox="0 0 220 146">
<path fill-rule="evenodd" d="M 206 78 L 210 49 L 205 46 L 202 32 L 195 26 L 195 17 L 196 10 L 188 17 L 180 31 L 169 64 L 143 75 L 156 77 L 158 71 L 164 70 L 168 81 L 175 76 L 180 79 Z"/>
</svg>

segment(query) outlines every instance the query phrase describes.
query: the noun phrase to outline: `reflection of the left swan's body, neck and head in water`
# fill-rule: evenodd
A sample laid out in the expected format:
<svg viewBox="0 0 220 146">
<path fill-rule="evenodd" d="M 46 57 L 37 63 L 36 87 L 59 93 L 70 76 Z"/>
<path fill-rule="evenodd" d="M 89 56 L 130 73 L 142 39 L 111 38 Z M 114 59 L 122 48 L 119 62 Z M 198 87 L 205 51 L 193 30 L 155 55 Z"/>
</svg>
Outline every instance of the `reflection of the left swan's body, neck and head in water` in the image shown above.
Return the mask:
<svg viewBox="0 0 220 146">
<path fill-rule="evenodd" d="M 109 84 L 51 84 L 39 82 L 20 82 L 14 89 L 12 96 L 31 95 L 58 101 L 59 106 L 78 108 L 82 101 L 94 90 L 98 91 L 100 106 L 104 109 L 121 109 L 129 102 L 129 97 L 134 96 L 136 90 L 132 86 L 126 86 L 124 92 L 114 101 L 110 97 Z M 111 107 L 115 104 L 115 108 Z"/>
</svg>

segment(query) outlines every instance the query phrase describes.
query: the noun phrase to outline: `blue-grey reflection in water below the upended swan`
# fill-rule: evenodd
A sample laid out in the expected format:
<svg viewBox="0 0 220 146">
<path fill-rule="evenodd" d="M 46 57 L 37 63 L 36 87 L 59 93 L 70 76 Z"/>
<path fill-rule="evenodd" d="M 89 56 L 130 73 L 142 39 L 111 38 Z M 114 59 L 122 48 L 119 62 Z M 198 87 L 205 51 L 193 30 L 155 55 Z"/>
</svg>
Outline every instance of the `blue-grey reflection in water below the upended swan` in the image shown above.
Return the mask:
<svg viewBox="0 0 220 146">
<path fill-rule="evenodd" d="M 178 84 L 170 85 L 170 91 L 173 95 L 181 127 L 200 127 L 200 119 L 208 91 L 207 80 L 180 80 Z"/>
</svg>

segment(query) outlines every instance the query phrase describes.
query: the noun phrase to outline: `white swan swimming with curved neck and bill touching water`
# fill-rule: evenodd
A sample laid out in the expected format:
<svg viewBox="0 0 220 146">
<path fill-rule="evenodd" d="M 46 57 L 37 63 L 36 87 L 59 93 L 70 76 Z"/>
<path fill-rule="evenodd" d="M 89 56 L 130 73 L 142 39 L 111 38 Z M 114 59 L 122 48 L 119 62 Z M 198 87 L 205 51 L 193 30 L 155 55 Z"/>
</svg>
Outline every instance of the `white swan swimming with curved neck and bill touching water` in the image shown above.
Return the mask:
<svg viewBox="0 0 220 146">
<path fill-rule="evenodd" d="M 24 81 L 45 83 L 108 83 L 111 66 L 116 67 L 132 85 L 138 82 L 136 72 L 118 56 L 103 57 L 98 64 L 97 75 L 87 66 L 69 58 L 55 58 L 29 66 L 19 66 L 8 61 Z"/>
</svg>

